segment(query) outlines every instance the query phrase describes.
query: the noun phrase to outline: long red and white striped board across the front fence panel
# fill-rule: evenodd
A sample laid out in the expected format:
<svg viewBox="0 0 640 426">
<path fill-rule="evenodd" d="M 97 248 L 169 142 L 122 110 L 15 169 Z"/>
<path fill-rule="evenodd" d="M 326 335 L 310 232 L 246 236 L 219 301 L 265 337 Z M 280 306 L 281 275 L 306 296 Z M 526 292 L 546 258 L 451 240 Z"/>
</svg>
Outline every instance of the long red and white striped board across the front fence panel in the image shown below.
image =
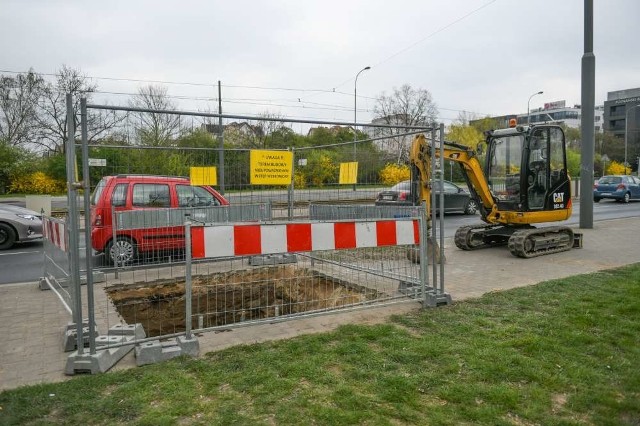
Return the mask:
<svg viewBox="0 0 640 426">
<path fill-rule="evenodd" d="M 418 244 L 417 220 L 233 224 L 191 228 L 192 256 L 216 258 Z"/>
</svg>

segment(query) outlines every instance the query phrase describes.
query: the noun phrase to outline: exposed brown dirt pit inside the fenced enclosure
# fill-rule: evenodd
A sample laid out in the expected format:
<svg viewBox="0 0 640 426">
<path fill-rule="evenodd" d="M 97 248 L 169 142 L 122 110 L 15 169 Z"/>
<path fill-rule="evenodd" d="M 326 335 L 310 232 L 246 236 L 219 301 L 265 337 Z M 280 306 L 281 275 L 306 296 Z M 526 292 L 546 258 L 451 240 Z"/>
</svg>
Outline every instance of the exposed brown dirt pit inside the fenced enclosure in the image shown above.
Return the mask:
<svg viewBox="0 0 640 426">
<path fill-rule="evenodd" d="M 203 327 L 214 327 L 377 297 L 373 290 L 292 265 L 196 276 L 192 282 L 194 329 L 199 321 Z M 141 323 L 147 336 L 185 330 L 184 281 L 112 287 L 107 294 L 123 319 Z"/>
</svg>

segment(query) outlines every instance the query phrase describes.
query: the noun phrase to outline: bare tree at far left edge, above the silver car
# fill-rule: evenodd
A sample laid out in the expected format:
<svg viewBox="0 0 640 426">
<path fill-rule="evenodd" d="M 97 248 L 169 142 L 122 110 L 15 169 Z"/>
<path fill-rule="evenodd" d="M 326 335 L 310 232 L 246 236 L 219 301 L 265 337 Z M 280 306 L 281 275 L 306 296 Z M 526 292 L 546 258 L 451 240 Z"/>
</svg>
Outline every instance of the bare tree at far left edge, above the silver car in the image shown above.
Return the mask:
<svg viewBox="0 0 640 426">
<path fill-rule="evenodd" d="M 29 70 L 15 77 L 0 76 L 0 139 L 9 146 L 27 147 L 35 133 L 42 77 Z"/>
</svg>

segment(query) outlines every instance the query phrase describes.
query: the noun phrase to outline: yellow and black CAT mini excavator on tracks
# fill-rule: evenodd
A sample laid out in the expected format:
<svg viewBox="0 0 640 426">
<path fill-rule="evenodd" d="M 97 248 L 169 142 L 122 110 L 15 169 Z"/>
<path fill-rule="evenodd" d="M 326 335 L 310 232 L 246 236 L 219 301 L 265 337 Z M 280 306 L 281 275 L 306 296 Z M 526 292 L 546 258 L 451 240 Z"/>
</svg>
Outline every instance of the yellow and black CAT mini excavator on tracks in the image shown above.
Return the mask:
<svg viewBox="0 0 640 426">
<path fill-rule="evenodd" d="M 481 149 L 443 142 L 443 158 L 460 165 L 485 222 L 459 228 L 456 246 L 474 250 L 507 244 L 511 254 L 522 258 L 580 246 L 581 235 L 567 226 L 533 226 L 571 216 L 571 180 L 562 128 L 553 124 L 520 126 L 512 120 L 508 129 L 491 130 L 485 135 L 484 170 L 479 159 Z M 426 202 L 428 214 L 432 150 L 435 158 L 441 157 L 438 142 L 418 135 L 410 153 L 415 196 Z"/>
</svg>

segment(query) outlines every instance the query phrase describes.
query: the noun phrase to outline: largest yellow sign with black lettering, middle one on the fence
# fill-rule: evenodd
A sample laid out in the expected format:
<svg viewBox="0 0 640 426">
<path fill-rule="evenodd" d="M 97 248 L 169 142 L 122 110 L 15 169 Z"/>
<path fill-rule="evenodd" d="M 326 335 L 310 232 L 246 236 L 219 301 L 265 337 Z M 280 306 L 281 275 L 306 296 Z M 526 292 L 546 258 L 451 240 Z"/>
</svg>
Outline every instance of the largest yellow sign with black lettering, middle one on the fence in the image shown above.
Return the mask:
<svg viewBox="0 0 640 426">
<path fill-rule="evenodd" d="M 292 152 L 252 150 L 249 163 L 251 185 L 289 185 L 291 183 Z"/>
</svg>

